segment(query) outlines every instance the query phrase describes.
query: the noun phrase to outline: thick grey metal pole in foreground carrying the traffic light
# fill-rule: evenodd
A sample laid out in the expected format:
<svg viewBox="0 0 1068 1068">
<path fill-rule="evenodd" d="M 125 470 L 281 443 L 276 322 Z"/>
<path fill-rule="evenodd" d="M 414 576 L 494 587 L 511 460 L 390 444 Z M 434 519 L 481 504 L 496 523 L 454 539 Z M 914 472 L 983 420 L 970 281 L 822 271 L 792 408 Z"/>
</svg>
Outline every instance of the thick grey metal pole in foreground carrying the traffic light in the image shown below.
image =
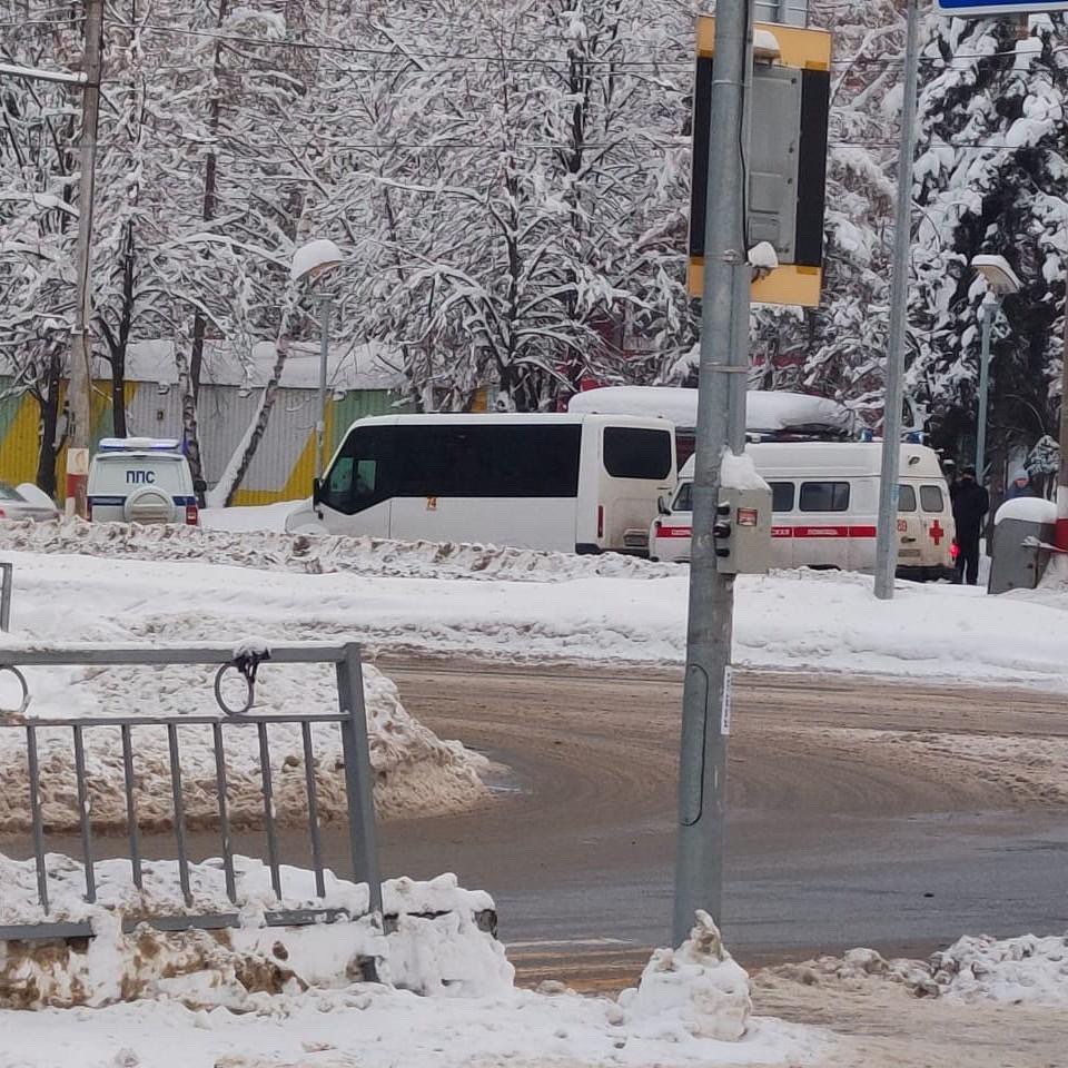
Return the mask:
<svg viewBox="0 0 1068 1068">
<path fill-rule="evenodd" d="M 723 900 L 726 734 L 733 578 L 715 566 L 712 524 L 728 445 L 731 372 L 743 346 L 732 337 L 736 286 L 748 273 L 739 154 L 751 24 L 745 0 L 720 0 L 715 19 L 709 184 L 701 300 L 701 364 L 693 478 L 690 615 L 679 767 L 679 852 L 673 937 L 680 945 L 704 909 L 719 922 Z M 744 428 L 744 421 L 742 423 Z"/>
</svg>

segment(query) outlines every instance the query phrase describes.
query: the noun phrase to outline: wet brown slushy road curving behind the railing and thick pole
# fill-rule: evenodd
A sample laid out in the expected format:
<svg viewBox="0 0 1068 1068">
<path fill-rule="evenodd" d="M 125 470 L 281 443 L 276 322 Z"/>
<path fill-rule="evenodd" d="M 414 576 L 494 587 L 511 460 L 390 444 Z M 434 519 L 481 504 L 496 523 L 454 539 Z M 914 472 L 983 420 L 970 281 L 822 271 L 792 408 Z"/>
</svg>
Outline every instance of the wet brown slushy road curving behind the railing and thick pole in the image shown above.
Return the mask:
<svg viewBox="0 0 1068 1068">
<path fill-rule="evenodd" d="M 560 977 L 562 961 L 578 985 L 632 975 L 669 939 L 678 675 L 379 666 L 424 723 L 502 765 L 494 800 L 476 811 L 385 823 L 384 873 L 454 871 L 488 890 L 526 980 L 543 968 Z M 1034 691 L 740 675 L 728 943 L 759 963 L 858 945 L 924 956 L 966 932 L 1065 930 L 1068 792 L 1036 779 L 1041 752 L 1009 759 L 995 746 L 982 758 L 969 745 L 1040 749 L 1066 736 L 1064 699 Z M 930 738 L 942 741 L 912 744 Z M 235 847 L 255 853 L 260 837 Z M 344 837 L 327 829 L 325 843 L 346 870 Z M 98 840 L 98 856 L 116 844 Z M 166 837 L 144 844 L 172 853 Z M 76 840 L 49 847 L 78 854 Z M 190 847 L 218 854 L 211 834 L 192 834 Z M 304 835 L 283 837 L 284 859 L 305 863 L 307 851 Z"/>
</svg>

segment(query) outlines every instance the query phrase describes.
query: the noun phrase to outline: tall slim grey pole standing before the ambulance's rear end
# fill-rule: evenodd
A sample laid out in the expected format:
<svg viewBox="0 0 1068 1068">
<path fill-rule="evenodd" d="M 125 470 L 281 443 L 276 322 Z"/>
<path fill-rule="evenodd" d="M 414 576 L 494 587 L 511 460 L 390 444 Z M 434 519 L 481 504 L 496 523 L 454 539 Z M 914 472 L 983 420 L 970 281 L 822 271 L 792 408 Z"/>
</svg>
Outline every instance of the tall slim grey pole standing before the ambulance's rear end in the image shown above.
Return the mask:
<svg viewBox="0 0 1068 1068">
<path fill-rule="evenodd" d="M 912 160 L 916 156 L 916 90 L 919 68 L 919 0 L 907 0 L 904 97 L 898 151 L 898 206 L 894 212 L 893 280 L 890 287 L 890 340 L 887 346 L 882 468 L 876 543 L 876 596 L 893 599 L 898 568 L 898 474 L 901 467 L 901 385 L 909 316 L 909 248 L 912 241 Z"/>
</svg>

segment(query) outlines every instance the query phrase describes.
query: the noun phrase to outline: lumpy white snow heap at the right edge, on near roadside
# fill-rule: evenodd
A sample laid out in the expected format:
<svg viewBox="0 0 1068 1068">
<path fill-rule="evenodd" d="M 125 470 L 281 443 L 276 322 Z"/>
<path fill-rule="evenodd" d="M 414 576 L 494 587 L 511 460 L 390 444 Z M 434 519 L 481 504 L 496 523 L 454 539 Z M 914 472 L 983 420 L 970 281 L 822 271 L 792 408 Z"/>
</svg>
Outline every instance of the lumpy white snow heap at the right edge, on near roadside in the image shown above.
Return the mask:
<svg viewBox="0 0 1068 1068">
<path fill-rule="evenodd" d="M 931 958 L 934 981 L 965 1001 L 1068 1007 L 1068 934 L 965 936 Z"/>
</svg>

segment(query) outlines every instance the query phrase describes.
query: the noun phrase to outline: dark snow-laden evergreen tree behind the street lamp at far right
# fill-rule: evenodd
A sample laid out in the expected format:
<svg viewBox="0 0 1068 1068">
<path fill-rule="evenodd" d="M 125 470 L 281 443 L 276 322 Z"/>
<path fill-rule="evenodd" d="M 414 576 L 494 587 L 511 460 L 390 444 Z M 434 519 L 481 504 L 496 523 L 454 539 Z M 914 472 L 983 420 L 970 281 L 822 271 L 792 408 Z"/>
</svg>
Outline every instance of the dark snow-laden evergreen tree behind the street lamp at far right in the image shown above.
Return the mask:
<svg viewBox="0 0 1068 1068">
<path fill-rule="evenodd" d="M 979 376 L 978 253 L 1003 256 L 1022 281 L 993 324 L 989 458 L 1056 434 L 1060 388 L 1068 166 L 1068 53 L 1062 19 L 938 20 L 923 52 L 919 241 L 910 380 L 928 398 L 934 439 L 970 451 Z"/>
</svg>

